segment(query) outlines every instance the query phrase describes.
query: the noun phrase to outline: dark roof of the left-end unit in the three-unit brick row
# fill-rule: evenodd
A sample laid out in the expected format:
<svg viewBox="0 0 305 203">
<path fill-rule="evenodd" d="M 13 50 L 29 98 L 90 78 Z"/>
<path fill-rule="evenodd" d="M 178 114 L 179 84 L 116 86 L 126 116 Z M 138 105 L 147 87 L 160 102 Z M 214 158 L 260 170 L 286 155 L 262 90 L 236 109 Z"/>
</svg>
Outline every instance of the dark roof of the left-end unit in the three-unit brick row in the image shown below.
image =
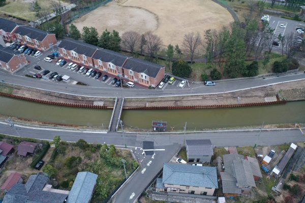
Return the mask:
<svg viewBox="0 0 305 203">
<path fill-rule="evenodd" d="M 100 47 L 90 45 L 84 42 L 79 42 L 77 40 L 65 39 L 60 42 L 58 45 L 59 48 L 63 48 L 69 51 L 75 51 L 78 54 L 83 54 L 88 57 L 92 57 L 97 49 L 101 49 Z"/>
</svg>

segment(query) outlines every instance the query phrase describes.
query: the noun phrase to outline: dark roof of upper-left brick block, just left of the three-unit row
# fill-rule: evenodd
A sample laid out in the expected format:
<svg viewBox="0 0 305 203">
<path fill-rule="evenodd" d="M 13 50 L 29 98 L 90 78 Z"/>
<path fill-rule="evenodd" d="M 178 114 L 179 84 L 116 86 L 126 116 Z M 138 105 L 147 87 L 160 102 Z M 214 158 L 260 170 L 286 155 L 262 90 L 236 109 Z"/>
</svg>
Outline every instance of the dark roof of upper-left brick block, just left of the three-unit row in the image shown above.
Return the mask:
<svg viewBox="0 0 305 203">
<path fill-rule="evenodd" d="M 37 29 L 34 27 L 29 27 L 25 25 L 20 25 L 18 26 L 17 30 L 15 33 L 18 33 L 21 36 L 27 36 L 31 39 L 38 40 L 38 41 L 43 41 L 47 35 L 54 35 L 51 32 L 47 32 L 41 29 Z"/>
</svg>

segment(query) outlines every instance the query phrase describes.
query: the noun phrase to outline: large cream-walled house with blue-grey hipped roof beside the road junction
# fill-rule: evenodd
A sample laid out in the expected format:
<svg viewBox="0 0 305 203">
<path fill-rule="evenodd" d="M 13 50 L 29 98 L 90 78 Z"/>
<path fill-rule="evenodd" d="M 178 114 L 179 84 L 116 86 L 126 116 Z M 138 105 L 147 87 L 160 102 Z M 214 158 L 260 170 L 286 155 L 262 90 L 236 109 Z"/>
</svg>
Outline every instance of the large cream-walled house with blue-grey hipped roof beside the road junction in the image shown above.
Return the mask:
<svg viewBox="0 0 305 203">
<path fill-rule="evenodd" d="M 214 195 L 218 188 L 216 167 L 164 163 L 163 177 L 157 179 L 157 191 Z"/>
</svg>

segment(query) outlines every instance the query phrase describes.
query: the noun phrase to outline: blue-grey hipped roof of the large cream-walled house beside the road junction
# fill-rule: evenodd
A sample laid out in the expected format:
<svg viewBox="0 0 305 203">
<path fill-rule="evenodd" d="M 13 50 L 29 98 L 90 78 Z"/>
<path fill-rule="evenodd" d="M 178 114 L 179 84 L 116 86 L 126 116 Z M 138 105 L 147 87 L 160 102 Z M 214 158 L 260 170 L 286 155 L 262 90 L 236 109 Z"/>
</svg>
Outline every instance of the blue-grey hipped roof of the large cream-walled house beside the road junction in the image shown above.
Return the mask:
<svg viewBox="0 0 305 203">
<path fill-rule="evenodd" d="M 218 188 L 216 167 L 164 163 L 162 183 Z"/>
</svg>

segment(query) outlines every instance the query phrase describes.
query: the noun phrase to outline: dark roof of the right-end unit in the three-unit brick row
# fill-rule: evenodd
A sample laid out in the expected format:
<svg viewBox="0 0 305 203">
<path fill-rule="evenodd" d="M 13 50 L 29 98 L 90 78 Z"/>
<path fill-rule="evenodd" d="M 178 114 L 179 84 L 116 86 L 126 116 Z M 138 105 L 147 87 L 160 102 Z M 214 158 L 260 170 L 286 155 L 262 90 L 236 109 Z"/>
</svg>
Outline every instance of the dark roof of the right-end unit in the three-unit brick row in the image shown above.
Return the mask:
<svg viewBox="0 0 305 203">
<path fill-rule="evenodd" d="M 129 58 L 123 67 L 124 69 L 136 73 L 144 73 L 149 77 L 155 78 L 163 66 L 138 58 Z"/>
</svg>

